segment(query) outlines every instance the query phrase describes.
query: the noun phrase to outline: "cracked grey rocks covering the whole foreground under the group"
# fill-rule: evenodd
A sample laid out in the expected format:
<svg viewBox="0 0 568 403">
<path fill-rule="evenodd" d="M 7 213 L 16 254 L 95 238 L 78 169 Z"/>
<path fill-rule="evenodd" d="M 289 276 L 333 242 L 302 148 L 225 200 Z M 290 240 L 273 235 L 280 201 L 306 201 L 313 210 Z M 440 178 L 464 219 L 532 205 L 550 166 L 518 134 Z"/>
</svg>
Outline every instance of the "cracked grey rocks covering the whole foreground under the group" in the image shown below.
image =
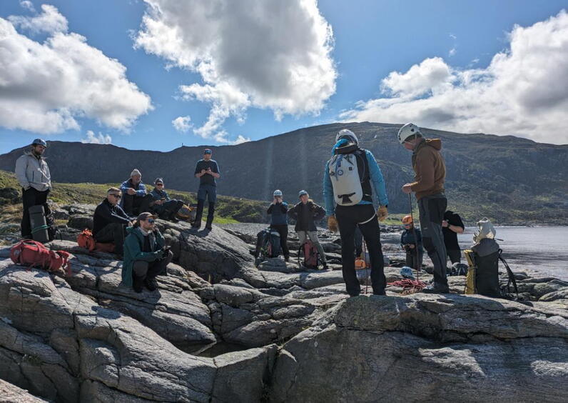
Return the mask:
<svg viewBox="0 0 568 403">
<path fill-rule="evenodd" d="M 176 263 L 155 292 L 122 287 L 121 262 L 72 241 L 49 244 L 71 252 L 69 277 L 0 249 L 0 379 L 10 383 L 0 391 L 55 402 L 568 399 L 567 282 L 517 274 L 524 302 L 392 286 L 348 299 L 330 233 L 331 269 L 320 272 L 280 258 L 254 267 L 245 232 L 158 224 Z M 452 292 L 464 282 L 450 277 Z"/>
</svg>

